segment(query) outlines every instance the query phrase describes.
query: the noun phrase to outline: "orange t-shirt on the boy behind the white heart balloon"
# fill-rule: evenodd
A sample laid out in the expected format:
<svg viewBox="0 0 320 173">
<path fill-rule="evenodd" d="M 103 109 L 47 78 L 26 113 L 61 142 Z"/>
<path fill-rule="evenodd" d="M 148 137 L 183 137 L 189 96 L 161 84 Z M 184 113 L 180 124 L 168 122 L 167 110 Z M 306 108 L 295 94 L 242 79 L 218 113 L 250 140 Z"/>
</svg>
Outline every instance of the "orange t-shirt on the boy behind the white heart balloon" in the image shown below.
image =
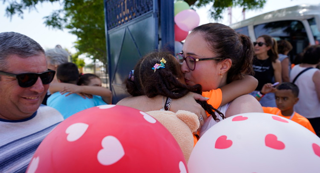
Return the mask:
<svg viewBox="0 0 320 173">
<path fill-rule="evenodd" d="M 277 107 L 262 107 L 262 109 L 263 109 L 264 113 L 279 115 L 279 116 L 282 116 L 282 117 L 287 118 L 287 119 L 290 118 L 290 116 L 282 115 L 281 110 L 279 108 L 277 108 Z M 316 134 L 315 130 L 313 129 L 312 125 L 310 124 L 309 120 L 306 117 L 294 112 L 291 120 L 294 121 L 294 122 L 299 123 L 303 127 L 309 129 L 314 134 Z"/>
</svg>

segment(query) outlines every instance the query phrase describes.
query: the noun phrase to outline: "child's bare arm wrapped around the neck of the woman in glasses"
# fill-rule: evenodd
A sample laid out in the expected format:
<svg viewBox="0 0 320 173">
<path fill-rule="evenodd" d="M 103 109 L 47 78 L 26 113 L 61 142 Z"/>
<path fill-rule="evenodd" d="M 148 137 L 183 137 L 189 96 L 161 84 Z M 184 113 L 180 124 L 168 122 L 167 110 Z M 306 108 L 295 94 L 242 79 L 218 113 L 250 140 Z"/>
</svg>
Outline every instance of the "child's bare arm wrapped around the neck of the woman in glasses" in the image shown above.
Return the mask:
<svg viewBox="0 0 320 173">
<path fill-rule="evenodd" d="M 235 98 L 249 94 L 258 86 L 258 80 L 251 75 L 245 75 L 244 79 L 233 81 L 223 87 L 221 105 L 225 105 Z"/>
</svg>

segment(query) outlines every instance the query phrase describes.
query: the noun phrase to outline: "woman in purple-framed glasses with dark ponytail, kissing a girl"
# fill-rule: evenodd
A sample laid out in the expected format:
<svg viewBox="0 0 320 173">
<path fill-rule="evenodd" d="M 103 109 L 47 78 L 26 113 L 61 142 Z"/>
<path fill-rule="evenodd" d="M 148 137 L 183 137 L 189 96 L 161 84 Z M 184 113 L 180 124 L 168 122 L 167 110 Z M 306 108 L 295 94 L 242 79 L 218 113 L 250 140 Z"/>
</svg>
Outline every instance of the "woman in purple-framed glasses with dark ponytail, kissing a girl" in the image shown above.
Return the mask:
<svg viewBox="0 0 320 173">
<path fill-rule="evenodd" d="M 252 74 L 253 46 L 249 37 L 239 35 L 232 28 L 220 23 L 198 26 L 187 36 L 179 55 L 182 59 L 181 71 L 187 85 L 200 84 L 203 96 L 213 98 L 212 90 L 221 88 L 233 81 L 244 79 Z M 239 86 L 240 92 L 245 90 Z M 227 97 L 224 92 L 222 98 Z M 216 100 L 209 99 L 212 104 Z M 262 112 L 261 105 L 246 94 L 218 108 L 226 117 L 247 113 Z M 200 136 L 216 122 L 208 117 L 201 128 Z"/>
</svg>

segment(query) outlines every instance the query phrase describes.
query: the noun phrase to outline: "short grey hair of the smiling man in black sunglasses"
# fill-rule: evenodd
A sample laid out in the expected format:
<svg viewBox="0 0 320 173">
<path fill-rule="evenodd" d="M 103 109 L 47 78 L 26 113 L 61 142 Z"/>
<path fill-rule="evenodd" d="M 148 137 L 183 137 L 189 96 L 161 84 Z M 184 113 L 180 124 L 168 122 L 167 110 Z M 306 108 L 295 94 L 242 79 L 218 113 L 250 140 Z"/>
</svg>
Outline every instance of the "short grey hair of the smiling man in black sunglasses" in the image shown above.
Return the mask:
<svg viewBox="0 0 320 173">
<path fill-rule="evenodd" d="M 18 55 L 21 58 L 44 54 L 44 49 L 32 38 L 16 33 L 0 33 L 0 70 L 7 67 L 6 59 L 10 55 Z"/>
</svg>

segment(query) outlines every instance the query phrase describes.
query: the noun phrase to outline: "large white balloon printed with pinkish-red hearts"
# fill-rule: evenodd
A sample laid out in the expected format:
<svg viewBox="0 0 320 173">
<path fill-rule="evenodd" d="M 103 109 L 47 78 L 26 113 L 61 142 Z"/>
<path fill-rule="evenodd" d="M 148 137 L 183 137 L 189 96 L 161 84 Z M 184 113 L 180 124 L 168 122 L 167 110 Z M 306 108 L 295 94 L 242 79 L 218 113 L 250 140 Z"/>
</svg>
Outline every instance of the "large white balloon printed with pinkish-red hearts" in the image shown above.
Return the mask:
<svg viewBox="0 0 320 173">
<path fill-rule="evenodd" d="M 284 117 L 238 114 L 204 133 L 188 169 L 189 173 L 318 173 L 320 138 Z"/>
</svg>

